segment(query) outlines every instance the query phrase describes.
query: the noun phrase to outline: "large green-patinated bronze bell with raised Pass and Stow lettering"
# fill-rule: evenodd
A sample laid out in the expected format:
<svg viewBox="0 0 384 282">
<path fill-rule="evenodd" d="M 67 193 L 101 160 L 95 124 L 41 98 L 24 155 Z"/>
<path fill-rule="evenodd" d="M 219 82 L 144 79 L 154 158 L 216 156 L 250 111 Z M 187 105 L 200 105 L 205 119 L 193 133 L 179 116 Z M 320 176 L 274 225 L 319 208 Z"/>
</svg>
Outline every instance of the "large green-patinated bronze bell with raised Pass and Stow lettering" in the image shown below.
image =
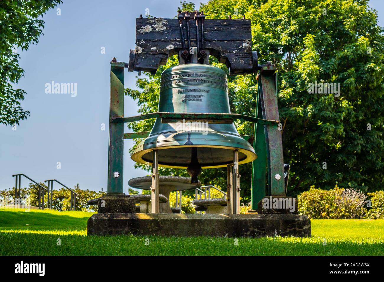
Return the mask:
<svg viewBox="0 0 384 282">
<path fill-rule="evenodd" d="M 180 64 L 166 69 L 161 74 L 158 111 L 230 113 L 225 72 L 206 64 Z M 233 163 L 233 150 L 238 150 L 239 164 L 257 157 L 233 123 L 163 122 L 156 119 L 149 136 L 134 150 L 132 160 L 152 163 L 152 151 L 158 150 L 160 167 L 187 168 L 192 183 L 196 183 L 201 168 L 227 167 Z"/>
</svg>

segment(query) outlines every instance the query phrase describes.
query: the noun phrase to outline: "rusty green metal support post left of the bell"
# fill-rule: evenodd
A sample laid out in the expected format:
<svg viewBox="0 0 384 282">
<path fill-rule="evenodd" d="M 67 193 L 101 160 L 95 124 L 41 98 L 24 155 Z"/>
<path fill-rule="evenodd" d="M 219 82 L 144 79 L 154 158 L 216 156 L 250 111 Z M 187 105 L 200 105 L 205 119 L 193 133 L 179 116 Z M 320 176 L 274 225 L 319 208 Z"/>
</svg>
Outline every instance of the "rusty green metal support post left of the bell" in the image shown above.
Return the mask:
<svg viewBox="0 0 384 282">
<path fill-rule="evenodd" d="M 124 124 L 113 123 L 124 117 L 124 63 L 111 62 L 109 107 L 108 194 L 123 194 Z"/>
</svg>

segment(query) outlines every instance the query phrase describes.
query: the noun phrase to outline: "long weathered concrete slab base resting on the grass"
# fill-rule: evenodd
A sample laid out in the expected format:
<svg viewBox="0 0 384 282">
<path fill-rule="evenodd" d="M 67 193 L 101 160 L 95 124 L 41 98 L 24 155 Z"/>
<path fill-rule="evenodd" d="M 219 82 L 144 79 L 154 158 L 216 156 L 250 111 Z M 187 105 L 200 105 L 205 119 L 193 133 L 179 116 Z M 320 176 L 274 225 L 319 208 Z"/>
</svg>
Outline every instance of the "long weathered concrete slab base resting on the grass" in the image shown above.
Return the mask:
<svg viewBox="0 0 384 282">
<path fill-rule="evenodd" d="M 311 237 L 311 221 L 299 214 L 99 213 L 88 219 L 87 234 Z"/>
</svg>

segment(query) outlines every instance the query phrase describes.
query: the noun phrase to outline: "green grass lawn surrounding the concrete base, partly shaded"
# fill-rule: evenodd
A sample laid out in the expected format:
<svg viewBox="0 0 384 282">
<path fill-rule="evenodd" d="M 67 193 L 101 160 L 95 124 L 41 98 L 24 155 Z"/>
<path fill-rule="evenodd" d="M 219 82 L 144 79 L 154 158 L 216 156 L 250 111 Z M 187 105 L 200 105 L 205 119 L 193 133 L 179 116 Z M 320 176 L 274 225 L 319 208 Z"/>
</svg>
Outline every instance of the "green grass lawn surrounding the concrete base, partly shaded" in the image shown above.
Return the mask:
<svg viewBox="0 0 384 282">
<path fill-rule="evenodd" d="M 235 245 L 234 238 L 217 237 L 87 237 L 86 223 L 91 214 L 0 209 L 0 255 L 384 254 L 384 219 L 313 219 L 311 238 L 238 238 Z"/>
</svg>

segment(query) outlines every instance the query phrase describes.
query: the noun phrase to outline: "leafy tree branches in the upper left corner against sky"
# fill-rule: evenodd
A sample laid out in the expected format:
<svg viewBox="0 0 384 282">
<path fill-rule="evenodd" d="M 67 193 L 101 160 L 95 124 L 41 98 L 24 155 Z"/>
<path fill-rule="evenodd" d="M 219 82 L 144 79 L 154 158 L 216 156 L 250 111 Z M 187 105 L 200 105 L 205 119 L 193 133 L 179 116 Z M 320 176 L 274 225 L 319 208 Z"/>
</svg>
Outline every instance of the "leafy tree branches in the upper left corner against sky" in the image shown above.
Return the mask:
<svg viewBox="0 0 384 282">
<path fill-rule="evenodd" d="M 7 0 L 0 2 L 0 123 L 19 124 L 26 119 L 28 110 L 23 110 L 20 101 L 26 92 L 14 89 L 23 76 L 17 48 L 26 50 L 30 43 L 36 44 L 42 33 L 44 21 L 41 16 L 49 8 L 62 3 L 60 0 Z"/>
</svg>

